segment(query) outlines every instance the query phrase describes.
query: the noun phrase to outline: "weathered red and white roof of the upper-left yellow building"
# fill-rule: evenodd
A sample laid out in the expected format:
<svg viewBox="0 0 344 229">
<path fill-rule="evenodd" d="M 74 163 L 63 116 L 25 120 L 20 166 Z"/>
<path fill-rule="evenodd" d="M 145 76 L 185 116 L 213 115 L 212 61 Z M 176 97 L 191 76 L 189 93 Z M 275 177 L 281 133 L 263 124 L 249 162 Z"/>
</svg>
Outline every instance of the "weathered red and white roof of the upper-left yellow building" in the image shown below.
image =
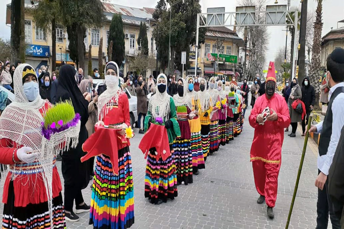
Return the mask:
<svg viewBox="0 0 344 229">
<path fill-rule="evenodd" d="M 105 12 L 107 13 L 116 13 L 126 16 L 131 16 L 135 18 L 143 18 L 143 19 L 150 19 L 152 18 L 152 14 L 154 13 L 153 8 L 144 7 L 142 9 L 135 8 L 135 7 L 126 7 L 123 5 L 117 5 L 112 3 L 104 3 Z"/>
</svg>

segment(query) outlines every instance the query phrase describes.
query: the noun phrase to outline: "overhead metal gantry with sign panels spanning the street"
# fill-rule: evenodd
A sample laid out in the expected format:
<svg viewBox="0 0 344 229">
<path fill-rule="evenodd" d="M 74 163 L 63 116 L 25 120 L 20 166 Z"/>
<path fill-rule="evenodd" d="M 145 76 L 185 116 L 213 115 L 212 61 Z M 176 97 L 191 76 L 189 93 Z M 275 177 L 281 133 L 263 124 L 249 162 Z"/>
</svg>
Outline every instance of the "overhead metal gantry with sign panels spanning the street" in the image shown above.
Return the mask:
<svg viewBox="0 0 344 229">
<path fill-rule="evenodd" d="M 224 8 L 222 8 L 224 9 Z M 296 19 L 296 20 L 295 20 Z M 287 23 L 289 22 L 289 23 Z M 288 11 L 287 5 L 267 5 L 266 11 L 255 11 L 254 6 L 237 7 L 236 12 L 212 12 L 197 14 L 196 30 L 196 62 L 195 77 L 197 76 L 198 36 L 199 28 L 221 26 L 294 26 L 294 49 L 292 78 L 295 77 L 297 53 L 297 24 L 298 11 Z M 246 54 L 245 54 L 246 55 Z M 246 58 L 246 57 L 245 57 Z"/>
</svg>

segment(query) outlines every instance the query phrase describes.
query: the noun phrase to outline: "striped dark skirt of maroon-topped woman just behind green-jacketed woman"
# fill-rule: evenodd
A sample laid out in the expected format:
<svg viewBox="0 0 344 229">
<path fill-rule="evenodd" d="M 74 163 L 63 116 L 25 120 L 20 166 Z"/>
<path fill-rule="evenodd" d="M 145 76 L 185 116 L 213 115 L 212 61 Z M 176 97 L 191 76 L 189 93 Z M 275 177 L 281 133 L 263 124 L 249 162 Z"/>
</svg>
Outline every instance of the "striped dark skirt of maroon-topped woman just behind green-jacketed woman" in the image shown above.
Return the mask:
<svg viewBox="0 0 344 229">
<path fill-rule="evenodd" d="M 190 139 L 175 138 L 173 149 L 177 184 L 181 184 L 183 181 L 185 185 L 192 183 L 192 153 Z"/>
</svg>

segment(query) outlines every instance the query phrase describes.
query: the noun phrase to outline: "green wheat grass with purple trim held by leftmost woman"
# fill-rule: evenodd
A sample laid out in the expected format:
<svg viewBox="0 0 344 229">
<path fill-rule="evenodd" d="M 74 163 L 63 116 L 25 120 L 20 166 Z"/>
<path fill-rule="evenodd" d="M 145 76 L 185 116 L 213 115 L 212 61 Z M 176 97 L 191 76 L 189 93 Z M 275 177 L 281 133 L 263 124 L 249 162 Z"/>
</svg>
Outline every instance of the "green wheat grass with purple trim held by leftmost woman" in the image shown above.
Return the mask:
<svg viewBox="0 0 344 229">
<path fill-rule="evenodd" d="M 53 107 L 49 108 L 44 115 L 44 127 L 48 128 L 52 123 L 56 124 L 59 128 L 60 125 L 57 123 L 62 120 L 63 124 L 66 124 L 73 120 L 75 117 L 74 107 L 71 100 L 65 102 L 58 102 Z"/>
</svg>

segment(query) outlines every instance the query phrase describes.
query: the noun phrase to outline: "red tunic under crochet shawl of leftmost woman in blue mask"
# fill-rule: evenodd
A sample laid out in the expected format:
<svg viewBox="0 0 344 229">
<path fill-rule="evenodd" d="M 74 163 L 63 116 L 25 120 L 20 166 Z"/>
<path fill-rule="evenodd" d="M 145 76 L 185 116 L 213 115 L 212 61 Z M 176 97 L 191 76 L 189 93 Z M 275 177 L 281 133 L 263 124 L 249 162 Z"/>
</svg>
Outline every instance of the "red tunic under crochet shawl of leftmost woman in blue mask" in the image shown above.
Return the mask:
<svg viewBox="0 0 344 229">
<path fill-rule="evenodd" d="M 44 106 L 39 110 L 43 115 L 45 111 L 51 107 L 49 102 L 45 102 Z M 20 146 L 22 147 L 22 146 Z M 14 151 L 14 160 L 19 161 L 17 157 L 17 144 L 12 140 L 3 138 L 0 139 L 0 163 L 10 164 L 10 171 L 6 177 L 2 202 L 7 203 L 9 184 L 13 171 L 22 170 L 21 174 L 18 174 L 13 180 L 14 187 L 14 206 L 15 207 L 26 207 L 28 204 L 39 204 L 46 202 L 47 194 L 44 188 L 44 182 L 41 174 L 41 166 L 37 162 L 31 164 L 18 163 L 14 164 L 12 156 Z M 57 168 L 55 166 L 56 159 L 53 159 L 53 198 L 58 196 L 62 190 L 60 175 L 58 175 Z"/>
</svg>

